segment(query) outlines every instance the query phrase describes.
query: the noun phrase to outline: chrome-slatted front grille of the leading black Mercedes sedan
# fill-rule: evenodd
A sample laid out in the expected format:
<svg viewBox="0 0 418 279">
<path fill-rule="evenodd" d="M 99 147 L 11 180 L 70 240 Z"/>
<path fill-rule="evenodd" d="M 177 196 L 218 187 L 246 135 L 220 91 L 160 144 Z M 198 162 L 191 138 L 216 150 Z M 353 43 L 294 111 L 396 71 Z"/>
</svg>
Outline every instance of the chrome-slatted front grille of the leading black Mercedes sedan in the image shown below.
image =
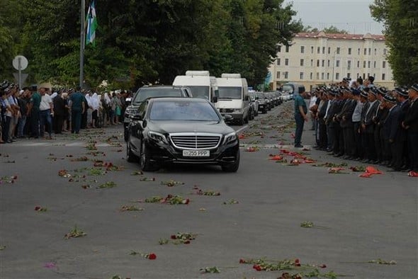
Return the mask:
<svg viewBox="0 0 418 279">
<path fill-rule="evenodd" d="M 200 132 L 170 134 L 174 147 L 179 149 L 213 149 L 219 146 L 222 135 Z"/>
</svg>

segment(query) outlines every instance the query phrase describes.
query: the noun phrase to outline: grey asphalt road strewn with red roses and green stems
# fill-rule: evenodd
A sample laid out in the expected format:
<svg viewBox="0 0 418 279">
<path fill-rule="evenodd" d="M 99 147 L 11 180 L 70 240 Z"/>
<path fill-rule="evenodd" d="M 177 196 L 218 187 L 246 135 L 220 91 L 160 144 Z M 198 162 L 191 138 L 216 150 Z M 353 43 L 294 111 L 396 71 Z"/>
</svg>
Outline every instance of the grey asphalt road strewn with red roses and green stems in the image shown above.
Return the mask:
<svg viewBox="0 0 418 279">
<path fill-rule="evenodd" d="M 278 278 L 307 274 L 312 265 L 328 278 L 418 278 L 418 179 L 379 166 L 383 174 L 361 178 L 349 166 L 364 164 L 292 149 L 292 106 L 235 127 L 242 144 L 237 173 L 171 166 L 137 175 L 138 165 L 125 161 L 122 125 L 1 144 L 0 278 Z M 280 149 L 315 162 L 289 166 L 294 156 Z M 287 162 L 271 160 L 280 153 Z M 342 173 L 312 166 L 324 163 L 347 165 Z M 178 184 L 162 184 L 171 180 Z M 190 203 L 143 202 L 169 194 Z M 122 211 L 125 205 L 140 210 Z M 86 235 L 64 239 L 76 226 Z M 179 243 L 171 239 L 176 233 L 196 239 Z M 301 267 L 256 271 L 240 258 L 265 258 L 273 267 L 298 258 Z M 383 264 L 390 261 L 396 264 Z M 200 273 L 205 267 L 220 273 Z"/>
</svg>

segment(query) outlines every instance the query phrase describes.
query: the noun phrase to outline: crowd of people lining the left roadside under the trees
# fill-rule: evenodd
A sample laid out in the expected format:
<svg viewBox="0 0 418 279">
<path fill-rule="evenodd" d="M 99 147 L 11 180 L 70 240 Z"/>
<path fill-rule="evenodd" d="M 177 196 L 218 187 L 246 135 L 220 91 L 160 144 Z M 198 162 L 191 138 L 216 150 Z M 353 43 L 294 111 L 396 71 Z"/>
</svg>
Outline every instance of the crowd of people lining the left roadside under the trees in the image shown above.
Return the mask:
<svg viewBox="0 0 418 279">
<path fill-rule="evenodd" d="M 30 86 L 19 89 L 4 81 L 0 86 L 0 143 L 28 137 L 52 139 L 52 133 L 106 127 L 123 123 L 129 92 L 95 93 L 91 90 L 50 89 Z"/>
</svg>

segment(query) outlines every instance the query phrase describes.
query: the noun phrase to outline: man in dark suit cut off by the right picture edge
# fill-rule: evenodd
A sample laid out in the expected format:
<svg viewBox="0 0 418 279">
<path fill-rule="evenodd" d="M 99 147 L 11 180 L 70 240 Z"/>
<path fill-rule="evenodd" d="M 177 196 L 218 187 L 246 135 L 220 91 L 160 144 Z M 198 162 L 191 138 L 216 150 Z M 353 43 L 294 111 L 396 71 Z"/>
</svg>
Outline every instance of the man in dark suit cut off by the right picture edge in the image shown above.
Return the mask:
<svg viewBox="0 0 418 279">
<path fill-rule="evenodd" d="M 407 130 L 410 169 L 418 171 L 418 84 L 411 86 L 408 96 L 409 108 L 402 127 Z"/>
</svg>

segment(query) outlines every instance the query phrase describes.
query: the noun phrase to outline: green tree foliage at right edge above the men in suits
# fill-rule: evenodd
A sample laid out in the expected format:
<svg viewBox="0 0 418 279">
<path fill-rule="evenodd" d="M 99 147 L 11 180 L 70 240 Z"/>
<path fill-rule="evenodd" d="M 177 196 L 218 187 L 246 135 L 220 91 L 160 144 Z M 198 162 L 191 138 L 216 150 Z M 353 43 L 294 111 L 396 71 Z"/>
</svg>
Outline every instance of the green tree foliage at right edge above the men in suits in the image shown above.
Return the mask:
<svg viewBox="0 0 418 279">
<path fill-rule="evenodd" d="M 375 0 L 373 18 L 384 24 L 390 48 L 388 61 L 395 81 L 410 85 L 418 81 L 418 3 L 407 0 Z"/>
</svg>

